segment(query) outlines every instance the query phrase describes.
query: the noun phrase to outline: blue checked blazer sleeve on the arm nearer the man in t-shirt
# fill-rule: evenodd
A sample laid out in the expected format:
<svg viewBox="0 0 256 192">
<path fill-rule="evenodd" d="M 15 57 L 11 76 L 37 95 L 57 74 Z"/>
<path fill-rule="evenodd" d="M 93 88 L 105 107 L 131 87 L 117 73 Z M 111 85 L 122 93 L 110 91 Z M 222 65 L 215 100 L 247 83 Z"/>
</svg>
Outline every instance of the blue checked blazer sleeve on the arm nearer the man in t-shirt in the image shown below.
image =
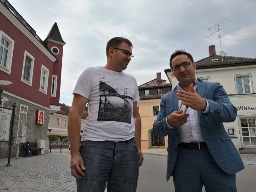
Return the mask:
<svg viewBox="0 0 256 192">
<path fill-rule="evenodd" d="M 173 130 L 175 130 L 166 126 L 166 118 L 169 116 L 169 114 L 166 112 L 166 97 L 167 95 L 161 97 L 160 111 L 157 115 L 157 121 L 154 122 L 153 125 L 153 131 L 157 137 L 165 137 L 166 135 L 171 134 Z"/>
</svg>

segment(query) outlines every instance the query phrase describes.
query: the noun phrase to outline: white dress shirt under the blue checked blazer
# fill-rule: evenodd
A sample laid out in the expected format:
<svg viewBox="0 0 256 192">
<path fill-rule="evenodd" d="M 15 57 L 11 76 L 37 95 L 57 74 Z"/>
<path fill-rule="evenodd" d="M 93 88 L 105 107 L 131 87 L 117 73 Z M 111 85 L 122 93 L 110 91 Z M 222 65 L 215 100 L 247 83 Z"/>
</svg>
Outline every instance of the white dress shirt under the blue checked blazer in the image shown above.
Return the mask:
<svg viewBox="0 0 256 192">
<path fill-rule="evenodd" d="M 198 79 L 195 79 L 195 86 L 194 89 L 197 88 Z M 179 84 L 177 84 L 177 90 L 183 90 Z M 202 113 L 208 113 L 209 112 L 209 103 L 207 99 L 205 99 L 207 102 L 207 107 Z M 178 100 L 178 106 L 180 108 L 181 100 Z M 160 109 L 161 110 L 161 109 Z M 187 118 L 187 122 L 180 126 L 180 137 L 179 137 L 179 143 L 191 143 L 191 142 L 204 142 L 204 135 L 202 133 L 201 127 L 200 127 L 200 119 L 198 116 L 198 111 L 188 108 L 187 112 L 189 113 L 189 116 Z M 166 118 L 166 126 L 169 128 L 173 128 L 169 123 L 167 122 Z"/>
</svg>

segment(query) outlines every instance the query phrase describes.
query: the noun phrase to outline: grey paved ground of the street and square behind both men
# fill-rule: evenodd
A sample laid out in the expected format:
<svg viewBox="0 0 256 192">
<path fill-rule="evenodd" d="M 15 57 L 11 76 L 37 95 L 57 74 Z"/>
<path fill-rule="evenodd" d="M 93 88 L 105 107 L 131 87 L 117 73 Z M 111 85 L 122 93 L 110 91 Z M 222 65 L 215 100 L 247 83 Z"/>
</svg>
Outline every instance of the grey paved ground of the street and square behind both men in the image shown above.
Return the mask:
<svg viewBox="0 0 256 192">
<path fill-rule="evenodd" d="M 18 159 L 11 158 L 11 167 L 5 166 L 8 162 L 7 159 L 0 159 L 0 192 L 76 191 L 76 180 L 70 175 L 69 152 L 67 149 L 62 149 L 60 154 L 59 149 L 52 149 L 51 154 L 19 157 Z M 170 179 L 169 182 L 164 180 L 166 154 L 163 152 L 143 151 L 145 160 L 143 167 L 140 168 L 137 192 L 174 191 L 172 180 Z M 157 155 L 148 155 L 150 153 Z M 241 156 L 244 163 L 252 164 L 246 165 L 246 170 L 242 171 L 241 175 L 239 174 L 237 177 L 237 180 L 239 180 L 238 185 L 244 185 L 244 189 L 246 189 L 246 187 L 250 187 L 250 182 L 254 183 L 256 154 L 241 154 Z M 152 169 L 152 167 L 156 170 Z M 245 191 L 248 192 L 250 190 Z"/>
</svg>

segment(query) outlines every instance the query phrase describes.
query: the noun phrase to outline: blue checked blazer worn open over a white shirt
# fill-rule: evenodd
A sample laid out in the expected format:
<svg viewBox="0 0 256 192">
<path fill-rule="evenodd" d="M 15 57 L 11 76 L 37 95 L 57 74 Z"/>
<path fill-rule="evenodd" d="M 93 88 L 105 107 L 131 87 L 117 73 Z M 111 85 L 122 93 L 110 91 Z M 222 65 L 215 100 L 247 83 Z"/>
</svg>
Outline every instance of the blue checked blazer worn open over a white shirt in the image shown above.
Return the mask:
<svg viewBox="0 0 256 192">
<path fill-rule="evenodd" d="M 209 113 L 198 111 L 201 130 L 210 154 L 218 166 L 227 174 L 235 174 L 244 169 L 244 164 L 225 131 L 223 122 L 233 122 L 236 119 L 236 108 L 228 99 L 221 84 L 203 82 L 198 79 L 196 92 L 209 103 Z M 168 135 L 168 159 L 166 180 L 172 175 L 177 157 L 179 127 L 170 129 L 166 126 L 166 118 L 173 111 L 178 111 L 177 87 L 161 97 L 160 111 L 154 122 L 154 134 L 157 137 Z"/>
</svg>

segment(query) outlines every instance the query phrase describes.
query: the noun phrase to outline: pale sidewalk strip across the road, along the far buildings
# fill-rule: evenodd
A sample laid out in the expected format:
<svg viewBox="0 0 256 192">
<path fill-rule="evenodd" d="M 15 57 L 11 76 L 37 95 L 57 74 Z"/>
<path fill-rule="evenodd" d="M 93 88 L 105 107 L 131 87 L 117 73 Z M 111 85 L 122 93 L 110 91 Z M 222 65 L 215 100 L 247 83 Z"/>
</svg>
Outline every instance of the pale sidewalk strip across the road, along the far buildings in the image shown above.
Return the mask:
<svg viewBox="0 0 256 192">
<path fill-rule="evenodd" d="M 167 156 L 167 149 L 143 149 L 143 154 Z M 256 165 L 256 154 L 240 154 L 244 164 Z"/>
</svg>

